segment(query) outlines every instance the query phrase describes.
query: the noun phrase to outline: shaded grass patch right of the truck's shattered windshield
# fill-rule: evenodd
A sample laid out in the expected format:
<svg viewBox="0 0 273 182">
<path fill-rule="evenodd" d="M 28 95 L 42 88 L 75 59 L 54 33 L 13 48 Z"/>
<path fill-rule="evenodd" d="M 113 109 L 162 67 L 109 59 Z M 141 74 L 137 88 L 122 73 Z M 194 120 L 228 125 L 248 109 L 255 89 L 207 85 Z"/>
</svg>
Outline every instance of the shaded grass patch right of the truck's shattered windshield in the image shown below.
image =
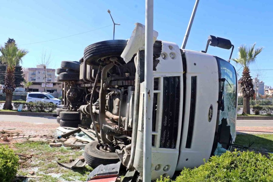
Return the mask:
<svg viewBox="0 0 273 182">
<path fill-rule="evenodd" d="M 273 152 L 273 134 L 242 134 L 237 135 L 235 144 L 248 146 L 249 142 L 252 143 L 250 150 L 257 150 L 263 152 Z"/>
</svg>

